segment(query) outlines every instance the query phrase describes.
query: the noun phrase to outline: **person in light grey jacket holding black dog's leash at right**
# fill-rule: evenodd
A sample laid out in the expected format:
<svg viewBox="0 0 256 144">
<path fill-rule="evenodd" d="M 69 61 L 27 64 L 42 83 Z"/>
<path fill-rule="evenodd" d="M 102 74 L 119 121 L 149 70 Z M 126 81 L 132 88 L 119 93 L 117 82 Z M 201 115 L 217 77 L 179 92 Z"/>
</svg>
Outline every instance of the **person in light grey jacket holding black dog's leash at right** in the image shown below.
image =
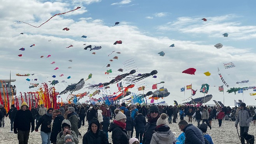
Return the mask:
<svg viewBox="0 0 256 144">
<path fill-rule="evenodd" d="M 235 127 L 237 128 L 237 125 L 239 123 L 240 126 L 240 135 L 243 135 L 244 132 L 249 131 L 250 122 L 252 121 L 252 115 L 249 111 L 249 109 L 246 108 L 246 104 L 242 103 L 240 104 L 240 111 L 238 111 L 237 120 L 235 121 Z M 241 142 L 244 144 L 244 137 L 241 136 Z"/>
</svg>

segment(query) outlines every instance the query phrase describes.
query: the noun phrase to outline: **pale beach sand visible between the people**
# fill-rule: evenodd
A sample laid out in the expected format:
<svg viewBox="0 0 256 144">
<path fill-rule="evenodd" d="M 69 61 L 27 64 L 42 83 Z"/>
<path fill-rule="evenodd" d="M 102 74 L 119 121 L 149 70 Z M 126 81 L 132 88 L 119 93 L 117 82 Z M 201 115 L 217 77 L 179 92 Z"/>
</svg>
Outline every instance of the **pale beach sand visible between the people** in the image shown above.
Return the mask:
<svg viewBox="0 0 256 144">
<path fill-rule="evenodd" d="M 188 117 L 185 117 L 184 120 L 188 121 Z M 177 121 L 179 122 L 179 120 Z M 197 126 L 197 122 L 195 120 L 192 121 L 193 125 Z M 202 123 L 202 122 L 201 122 Z M 82 136 L 86 133 L 88 128 L 88 122 L 86 121 L 86 125 L 82 126 L 79 129 L 79 132 Z M 178 123 L 168 124 L 172 132 L 176 132 L 176 137 L 181 134 L 179 130 Z M 0 140 L 1 144 L 18 144 L 17 134 L 9 133 L 11 130 L 10 119 L 5 118 L 5 127 L 0 128 Z M 214 144 L 241 144 L 237 129 L 235 128 L 235 122 L 223 120 L 222 127 L 219 128 L 218 120 L 212 121 L 212 129 L 208 127 L 207 132 L 212 137 L 212 141 Z M 238 132 L 240 132 L 238 127 Z M 109 142 L 112 143 L 111 134 L 109 132 Z M 249 134 L 256 135 L 256 126 L 252 123 L 249 127 Z M 135 137 L 135 130 L 133 132 L 133 137 Z M 82 144 L 82 137 L 79 137 L 79 144 Z M 29 135 L 28 144 L 42 144 L 41 136 L 40 136 L 40 127 L 39 132 L 33 131 Z"/>
</svg>

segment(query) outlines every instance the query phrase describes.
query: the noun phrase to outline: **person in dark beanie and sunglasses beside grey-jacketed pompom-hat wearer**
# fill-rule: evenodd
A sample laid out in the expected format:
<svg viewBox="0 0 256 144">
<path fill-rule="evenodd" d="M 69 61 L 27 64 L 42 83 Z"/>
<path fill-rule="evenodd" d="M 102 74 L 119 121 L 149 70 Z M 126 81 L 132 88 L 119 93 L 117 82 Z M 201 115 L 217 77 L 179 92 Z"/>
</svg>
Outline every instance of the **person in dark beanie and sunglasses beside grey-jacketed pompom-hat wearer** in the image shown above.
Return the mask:
<svg viewBox="0 0 256 144">
<path fill-rule="evenodd" d="M 149 115 L 147 119 L 147 125 L 145 126 L 144 137 L 142 140 L 143 144 L 150 144 L 154 129 L 156 128 L 156 121 L 160 118 L 159 108 L 153 104 L 149 107 Z"/>
</svg>

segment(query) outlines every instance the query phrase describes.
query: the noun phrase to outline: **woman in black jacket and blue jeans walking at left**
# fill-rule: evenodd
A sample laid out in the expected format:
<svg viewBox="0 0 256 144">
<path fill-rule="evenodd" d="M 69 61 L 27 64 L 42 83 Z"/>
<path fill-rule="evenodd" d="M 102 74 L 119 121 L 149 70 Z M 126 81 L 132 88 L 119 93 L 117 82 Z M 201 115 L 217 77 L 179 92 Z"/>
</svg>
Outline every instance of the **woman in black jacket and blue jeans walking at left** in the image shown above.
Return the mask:
<svg viewBox="0 0 256 144">
<path fill-rule="evenodd" d="M 49 108 L 39 121 L 37 122 L 37 126 L 35 127 L 35 131 L 38 132 L 38 128 L 41 125 L 40 135 L 42 138 L 42 144 L 51 144 L 51 121 L 53 119 L 53 108 Z"/>
</svg>

